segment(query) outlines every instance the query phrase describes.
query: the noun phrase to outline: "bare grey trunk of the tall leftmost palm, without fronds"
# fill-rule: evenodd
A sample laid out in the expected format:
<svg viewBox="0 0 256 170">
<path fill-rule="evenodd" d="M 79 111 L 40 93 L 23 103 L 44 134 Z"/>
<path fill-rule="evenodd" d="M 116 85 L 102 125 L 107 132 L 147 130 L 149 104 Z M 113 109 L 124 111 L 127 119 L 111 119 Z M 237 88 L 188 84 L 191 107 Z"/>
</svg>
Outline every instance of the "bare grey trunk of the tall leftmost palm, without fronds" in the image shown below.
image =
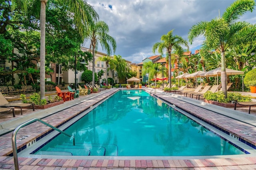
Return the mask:
<svg viewBox="0 0 256 170">
<path fill-rule="evenodd" d="M 45 98 L 45 20 L 46 20 L 46 2 L 47 0 L 41 0 L 40 10 L 40 99 Z"/>
</svg>

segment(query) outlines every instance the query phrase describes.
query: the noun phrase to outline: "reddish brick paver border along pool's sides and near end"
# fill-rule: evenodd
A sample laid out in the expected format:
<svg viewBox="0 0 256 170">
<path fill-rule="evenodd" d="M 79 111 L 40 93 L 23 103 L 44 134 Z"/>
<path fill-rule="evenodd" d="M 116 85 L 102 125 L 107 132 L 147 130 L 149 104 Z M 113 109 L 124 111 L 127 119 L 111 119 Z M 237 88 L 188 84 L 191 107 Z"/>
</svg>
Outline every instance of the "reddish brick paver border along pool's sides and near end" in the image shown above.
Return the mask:
<svg viewBox="0 0 256 170">
<path fill-rule="evenodd" d="M 68 121 L 71 117 L 79 115 L 81 112 L 90 108 L 92 105 L 98 103 L 102 99 L 112 95 L 116 92 L 114 90 L 102 91 L 100 95 L 96 95 L 92 99 L 84 99 L 77 105 L 69 107 L 65 110 L 58 111 L 48 117 L 43 118 L 43 121 L 58 127 L 64 122 Z M 193 105 L 191 103 L 176 99 L 171 95 L 164 93 L 156 93 L 157 97 L 169 102 L 174 103 L 176 107 L 189 112 L 191 115 L 197 118 L 211 123 L 214 127 L 222 128 L 227 132 L 230 132 L 245 142 L 249 142 L 256 145 L 256 126 L 255 124 L 246 123 L 243 120 L 232 119 L 232 117 L 226 117 L 211 111 Z M 80 98 L 80 97 L 79 97 Z M 78 99 L 79 99 L 78 98 Z M 82 98 L 82 97 L 81 97 Z M 80 98 L 80 99 L 81 99 Z M 67 101 L 69 102 L 69 101 Z M 65 102 L 65 103 L 67 103 Z M 230 110 L 232 112 L 232 110 Z M 256 119 L 256 118 L 255 118 Z M 11 123 L 11 122 L 10 122 Z M 239 128 L 242 131 L 248 132 L 250 136 L 234 130 L 234 127 Z M 24 140 L 17 143 L 17 148 L 22 148 L 28 142 L 36 140 L 39 136 L 42 136 L 46 132 L 50 131 L 51 128 L 46 127 L 41 123 L 32 123 L 26 127 L 21 128 L 16 136 L 16 139 L 30 135 Z M 12 132 L 6 133 L 0 136 L 0 169 L 14 169 L 14 159 L 12 156 L 8 156 L 12 153 Z M 138 157 L 137 157 L 138 158 Z M 206 159 L 50 159 L 50 158 L 23 158 L 19 157 L 19 168 L 20 170 L 111 170 L 111 169 L 187 169 L 187 170 L 207 170 L 207 169 L 244 169 L 244 170 L 255 170 L 256 169 L 256 157 L 250 154 L 244 156 L 230 156 L 229 158 L 206 158 Z"/>
</svg>

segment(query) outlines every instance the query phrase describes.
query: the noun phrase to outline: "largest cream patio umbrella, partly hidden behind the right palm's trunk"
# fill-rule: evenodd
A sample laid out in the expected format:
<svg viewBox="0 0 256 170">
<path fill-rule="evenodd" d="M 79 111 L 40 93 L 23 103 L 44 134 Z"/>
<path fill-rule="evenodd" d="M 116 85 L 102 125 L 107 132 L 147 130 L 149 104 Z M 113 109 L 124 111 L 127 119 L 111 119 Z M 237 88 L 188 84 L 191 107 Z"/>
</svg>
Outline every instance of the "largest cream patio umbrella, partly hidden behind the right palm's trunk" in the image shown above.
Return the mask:
<svg viewBox="0 0 256 170">
<path fill-rule="evenodd" d="M 221 67 L 218 67 L 216 69 L 213 69 L 211 71 L 207 71 L 205 73 L 202 73 L 202 77 L 217 77 L 217 85 L 218 85 L 218 76 L 221 74 Z M 226 68 L 226 74 L 227 75 L 239 75 L 244 74 L 244 71 L 239 70 L 233 70 Z M 244 91 L 244 76 L 242 76 L 242 91 Z"/>
</svg>

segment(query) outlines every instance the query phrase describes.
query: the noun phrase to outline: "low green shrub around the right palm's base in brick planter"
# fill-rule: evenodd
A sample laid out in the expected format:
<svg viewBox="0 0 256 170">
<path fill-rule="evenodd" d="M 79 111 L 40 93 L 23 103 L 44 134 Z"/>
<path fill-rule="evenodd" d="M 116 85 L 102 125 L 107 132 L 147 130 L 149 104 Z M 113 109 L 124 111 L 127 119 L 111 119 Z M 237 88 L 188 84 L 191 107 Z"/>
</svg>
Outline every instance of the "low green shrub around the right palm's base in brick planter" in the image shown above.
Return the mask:
<svg viewBox="0 0 256 170">
<path fill-rule="evenodd" d="M 218 91 L 216 93 L 212 93 L 211 91 L 207 91 L 204 93 L 204 98 L 206 100 L 217 101 L 220 103 L 231 103 L 231 101 L 252 101 L 249 96 L 243 96 L 241 93 L 228 92 L 228 97 L 225 99 L 225 95 L 222 91 Z"/>
</svg>

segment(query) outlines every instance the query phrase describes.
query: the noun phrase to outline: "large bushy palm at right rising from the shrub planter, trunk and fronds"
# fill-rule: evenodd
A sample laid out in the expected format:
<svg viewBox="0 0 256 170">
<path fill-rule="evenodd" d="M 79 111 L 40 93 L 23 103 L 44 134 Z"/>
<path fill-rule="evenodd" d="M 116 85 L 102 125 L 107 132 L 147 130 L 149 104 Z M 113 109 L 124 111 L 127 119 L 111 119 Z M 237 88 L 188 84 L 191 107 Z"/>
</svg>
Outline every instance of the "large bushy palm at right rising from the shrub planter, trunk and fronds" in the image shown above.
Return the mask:
<svg viewBox="0 0 256 170">
<path fill-rule="evenodd" d="M 222 90 L 227 98 L 227 74 L 225 64 L 225 51 L 229 47 L 240 44 L 250 39 L 246 30 L 250 25 L 247 22 L 236 22 L 239 16 L 245 12 L 254 9 L 254 0 L 237 0 L 226 9 L 221 18 L 212 19 L 210 22 L 201 21 L 192 26 L 188 34 L 190 43 L 200 36 L 204 35 L 205 41 L 202 50 L 211 51 L 218 49 L 221 53 L 221 85 Z M 255 30 L 254 30 L 255 32 Z"/>
</svg>

